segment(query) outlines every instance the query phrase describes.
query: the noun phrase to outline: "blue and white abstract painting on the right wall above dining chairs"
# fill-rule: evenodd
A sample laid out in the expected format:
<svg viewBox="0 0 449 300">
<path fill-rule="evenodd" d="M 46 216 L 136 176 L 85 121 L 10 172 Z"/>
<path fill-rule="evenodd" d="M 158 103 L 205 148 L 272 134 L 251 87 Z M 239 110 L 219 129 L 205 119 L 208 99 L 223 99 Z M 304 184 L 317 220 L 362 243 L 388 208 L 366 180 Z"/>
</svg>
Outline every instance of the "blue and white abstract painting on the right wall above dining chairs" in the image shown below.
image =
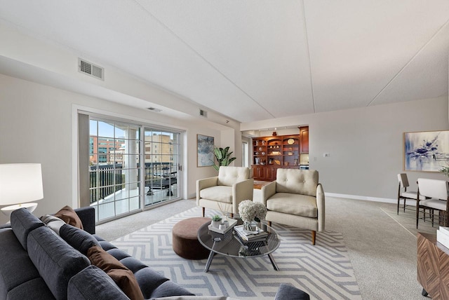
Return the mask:
<svg viewBox="0 0 449 300">
<path fill-rule="evenodd" d="M 449 163 L 449 130 L 404 132 L 404 170 L 438 172 Z"/>
</svg>

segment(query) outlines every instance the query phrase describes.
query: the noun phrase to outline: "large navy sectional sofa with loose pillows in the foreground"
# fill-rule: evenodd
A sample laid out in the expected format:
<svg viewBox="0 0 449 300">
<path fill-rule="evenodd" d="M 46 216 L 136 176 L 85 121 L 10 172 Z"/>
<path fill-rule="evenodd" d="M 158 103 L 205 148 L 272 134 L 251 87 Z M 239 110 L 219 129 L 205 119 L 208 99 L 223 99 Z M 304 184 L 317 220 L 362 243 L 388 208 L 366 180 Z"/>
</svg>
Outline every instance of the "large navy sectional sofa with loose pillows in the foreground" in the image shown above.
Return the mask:
<svg viewBox="0 0 449 300">
<path fill-rule="evenodd" d="M 65 224 L 59 236 L 25 208 L 11 214 L 11 226 L 0 229 L 0 300 L 130 299 L 105 271 L 86 257 L 86 252 L 98 245 L 133 272 L 145 299 L 228 299 L 194 296 L 96 236 L 93 207 L 75 212 L 83 230 Z M 276 299 L 309 299 L 309 295 L 290 285 L 281 285 Z"/>
</svg>

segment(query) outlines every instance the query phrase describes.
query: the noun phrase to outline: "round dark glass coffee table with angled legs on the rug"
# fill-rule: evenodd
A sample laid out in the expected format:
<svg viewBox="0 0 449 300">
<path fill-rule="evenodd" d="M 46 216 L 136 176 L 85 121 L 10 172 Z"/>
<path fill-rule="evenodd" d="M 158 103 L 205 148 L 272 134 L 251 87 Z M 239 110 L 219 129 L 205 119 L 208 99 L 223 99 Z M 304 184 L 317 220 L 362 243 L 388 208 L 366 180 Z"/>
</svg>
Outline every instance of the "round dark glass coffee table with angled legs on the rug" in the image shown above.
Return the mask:
<svg viewBox="0 0 449 300">
<path fill-rule="evenodd" d="M 227 257 L 236 258 L 252 258 L 268 255 L 274 270 L 279 271 L 276 261 L 274 261 L 272 256 L 272 252 L 279 247 L 281 241 L 279 240 L 278 234 L 272 227 L 267 224 L 262 224 L 262 229 L 268 233 L 266 239 L 257 242 L 245 242 L 241 240 L 234 229 L 230 229 L 227 233 L 221 234 L 210 231 L 208 229 L 209 224 L 210 222 L 203 224 L 198 229 L 199 243 L 206 247 L 206 249 L 210 250 L 204 272 L 209 271 L 210 263 L 212 262 L 215 254 L 222 254 Z M 237 225 L 239 224 L 242 224 L 241 220 L 237 222 Z"/>
</svg>

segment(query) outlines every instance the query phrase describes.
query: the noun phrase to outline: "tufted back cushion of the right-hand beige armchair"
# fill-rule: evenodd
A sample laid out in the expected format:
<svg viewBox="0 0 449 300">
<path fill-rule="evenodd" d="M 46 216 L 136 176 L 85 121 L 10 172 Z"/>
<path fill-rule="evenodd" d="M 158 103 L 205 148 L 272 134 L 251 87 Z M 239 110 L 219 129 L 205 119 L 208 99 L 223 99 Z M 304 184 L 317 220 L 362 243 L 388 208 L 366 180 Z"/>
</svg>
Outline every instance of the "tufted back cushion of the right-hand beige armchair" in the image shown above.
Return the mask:
<svg viewBox="0 0 449 300">
<path fill-rule="evenodd" d="M 282 169 L 276 171 L 276 193 L 300 193 L 316 197 L 318 171 Z"/>
</svg>

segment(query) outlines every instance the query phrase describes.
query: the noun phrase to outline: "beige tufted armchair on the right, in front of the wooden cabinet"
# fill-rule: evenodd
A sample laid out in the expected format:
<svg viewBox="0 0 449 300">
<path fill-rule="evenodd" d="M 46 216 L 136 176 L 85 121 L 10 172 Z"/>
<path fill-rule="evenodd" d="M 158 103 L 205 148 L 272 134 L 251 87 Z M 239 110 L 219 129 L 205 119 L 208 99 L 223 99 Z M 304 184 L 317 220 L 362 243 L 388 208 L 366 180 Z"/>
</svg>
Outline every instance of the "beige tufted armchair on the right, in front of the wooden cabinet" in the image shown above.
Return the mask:
<svg viewBox="0 0 449 300">
<path fill-rule="evenodd" d="M 324 231 L 325 203 L 318 171 L 281 169 L 276 181 L 262 187 L 262 203 L 267 206 L 268 225 L 273 222 L 311 230 L 315 245 L 316 231 Z"/>
</svg>

